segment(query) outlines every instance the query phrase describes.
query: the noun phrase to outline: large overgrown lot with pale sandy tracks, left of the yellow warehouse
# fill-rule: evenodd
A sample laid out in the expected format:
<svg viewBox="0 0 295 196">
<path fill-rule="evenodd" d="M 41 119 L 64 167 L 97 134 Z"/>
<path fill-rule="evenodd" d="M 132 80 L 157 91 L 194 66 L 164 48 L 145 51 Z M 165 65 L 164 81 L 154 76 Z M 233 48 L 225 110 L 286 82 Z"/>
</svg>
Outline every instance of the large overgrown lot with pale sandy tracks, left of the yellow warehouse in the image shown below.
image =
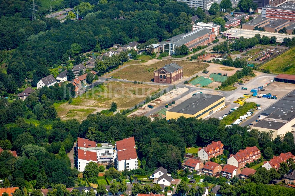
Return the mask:
<svg viewBox="0 0 295 196">
<path fill-rule="evenodd" d="M 81 97 L 73 99 L 71 104 L 55 104 L 58 116 L 65 119 L 76 118 L 79 121 L 89 114 L 109 109 L 112 102 L 116 102 L 118 109 L 127 109 L 140 103 L 148 95 L 158 92 L 167 86 L 134 84 L 131 82 L 107 82 L 99 85 Z"/>
</svg>

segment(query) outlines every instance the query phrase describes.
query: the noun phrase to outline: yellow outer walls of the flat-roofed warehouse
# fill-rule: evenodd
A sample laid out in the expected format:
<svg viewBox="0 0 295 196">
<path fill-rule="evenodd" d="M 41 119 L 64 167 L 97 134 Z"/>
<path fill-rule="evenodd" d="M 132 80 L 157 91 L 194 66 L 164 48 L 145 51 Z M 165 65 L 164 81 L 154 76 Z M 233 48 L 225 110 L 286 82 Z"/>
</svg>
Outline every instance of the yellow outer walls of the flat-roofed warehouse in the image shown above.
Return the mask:
<svg viewBox="0 0 295 196">
<path fill-rule="evenodd" d="M 206 108 L 204 108 L 204 109 L 198 111 L 196 114 L 183 114 L 183 113 L 178 113 L 178 112 L 169 112 L 169 110 L 168 110 L 168 111 L 166 112 L 166 120 L 170 120 L 170 119 L 172 119 L 172 118 L 177 119 L 177 118 L 179 118 L 179 117 L 181 117 L 181 116 L 186 117 L 186 118 L 189 118 L 189 117 L 196 117 L 196 116 L 198 116 L 199 114 L 201 114 L 202 112 L 206 111 L 207 109 L 213 107 L 213 106 L 216 105 L 217 103 L 219 103 L 219 102 L 221 102 L 221 101 L 224 101 L 224 100 L 225 100 L 225 97 L 220 97 L 219 100 L 217 100 L 216 102 L 210 104 L 210 105 L 207 106 Z M 225 103 L 224 103 L 224 104 L 225 104 Z M 219 108 L 219 107 L 221 107 L 221 106 L 222 106 L 222 104 L 218 105 L 217 107 L 215 107 L 215 108 L 213 108 L 213 109 L 211 109 L 211 110 L 214 111 L 214 110 L 216 110 L 217 108 Z M 209 110 L 208 112 L 206 112 L 206 113 L 204 113 L 203 115 L 201 115 L 200 117 L 198 117 L 198 119 L 200 119 L 200 118 L 204 118 L 204 117 L 208 116 L 211 110 Z"/>
</svg>

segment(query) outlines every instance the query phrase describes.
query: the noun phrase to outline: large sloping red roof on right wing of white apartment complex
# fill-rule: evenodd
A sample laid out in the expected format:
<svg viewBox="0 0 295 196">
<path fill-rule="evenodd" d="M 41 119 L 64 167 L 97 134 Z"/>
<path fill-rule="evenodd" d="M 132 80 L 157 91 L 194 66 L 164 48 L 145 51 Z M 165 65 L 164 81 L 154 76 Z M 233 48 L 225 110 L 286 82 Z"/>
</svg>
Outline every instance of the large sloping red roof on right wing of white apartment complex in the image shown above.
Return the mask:
<svg viewBox="0 0 295 196">
<path fill-rule="evenodd" d="M 136 159 L 134 137 L 125 138 L 116 142 L 118 161 Z"/>
</svg>

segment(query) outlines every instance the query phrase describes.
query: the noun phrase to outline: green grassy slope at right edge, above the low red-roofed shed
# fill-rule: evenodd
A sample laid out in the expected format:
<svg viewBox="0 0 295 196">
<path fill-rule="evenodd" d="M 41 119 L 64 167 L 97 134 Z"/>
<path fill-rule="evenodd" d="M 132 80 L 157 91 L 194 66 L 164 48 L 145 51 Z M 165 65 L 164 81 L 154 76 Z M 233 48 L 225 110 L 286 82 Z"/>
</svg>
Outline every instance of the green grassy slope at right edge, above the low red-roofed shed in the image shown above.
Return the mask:
<svg viewBox="0 0 295 196">
<path fill-rule="evenodd" d="M 295 73 L 295 48 L 279 55 L 271 61 L 263 64 L 260 69 L 269 69 L 273 74 L 294 74 Z"/>
</svg>

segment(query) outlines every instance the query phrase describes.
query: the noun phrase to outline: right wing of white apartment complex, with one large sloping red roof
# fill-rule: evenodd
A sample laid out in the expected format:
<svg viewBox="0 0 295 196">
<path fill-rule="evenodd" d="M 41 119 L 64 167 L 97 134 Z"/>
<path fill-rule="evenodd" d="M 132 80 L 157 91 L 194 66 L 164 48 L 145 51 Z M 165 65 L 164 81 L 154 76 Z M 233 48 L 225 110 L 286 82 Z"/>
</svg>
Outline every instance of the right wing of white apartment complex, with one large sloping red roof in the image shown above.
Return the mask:
<svg viewBox="0 0 295 196">
<path fill-rule="evenodd" d="M 115 143 L 117 150 L 116 167 L 118 171 L 138 169 L 138 159 L 134 137 L 125 138 Z"/>
</svg>

